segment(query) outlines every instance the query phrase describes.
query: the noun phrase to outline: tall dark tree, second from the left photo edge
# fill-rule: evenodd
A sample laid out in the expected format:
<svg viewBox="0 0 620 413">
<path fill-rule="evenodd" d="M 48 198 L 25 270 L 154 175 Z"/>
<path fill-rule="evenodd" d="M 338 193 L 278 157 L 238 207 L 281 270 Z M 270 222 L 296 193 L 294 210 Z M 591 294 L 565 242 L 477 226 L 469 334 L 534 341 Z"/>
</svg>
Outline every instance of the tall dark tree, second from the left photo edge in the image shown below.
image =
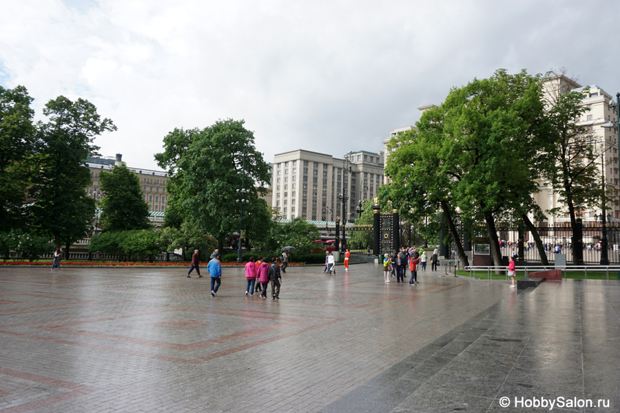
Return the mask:
<svg viewBox="0 0 620 413">
<path fill-rule="evenodd" d="M 37 174 L 30 187 L 35 200 L 32 223 L 57 247 L 65 244 L 68 254 L 70 244 L 84 236 L 94 215 L 95 202 L 86 195 L 92 178 L 85 163 L 99 149 L 92 142 L 116 127 L 81 98 L 72 102 L 59 96 L 45 105 L 43 114 L 49 120 L 37 124 Z"/>
</svg>

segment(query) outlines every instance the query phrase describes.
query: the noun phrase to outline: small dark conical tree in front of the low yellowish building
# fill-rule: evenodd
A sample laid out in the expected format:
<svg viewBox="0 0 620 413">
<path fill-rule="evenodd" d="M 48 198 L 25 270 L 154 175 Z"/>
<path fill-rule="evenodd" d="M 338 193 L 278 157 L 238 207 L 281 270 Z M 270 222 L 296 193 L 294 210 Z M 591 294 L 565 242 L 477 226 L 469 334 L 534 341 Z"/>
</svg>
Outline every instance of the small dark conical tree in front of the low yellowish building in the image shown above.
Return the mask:
<svg viewBox="0 0 620 413">
<path fill-rule="evenodd" d="M 99 174 L 101 190 L 101 223 L 105 231 L 149 229 L 149 207 L 143 199 L 140 178 L 125 165 Z"/>
</svg>

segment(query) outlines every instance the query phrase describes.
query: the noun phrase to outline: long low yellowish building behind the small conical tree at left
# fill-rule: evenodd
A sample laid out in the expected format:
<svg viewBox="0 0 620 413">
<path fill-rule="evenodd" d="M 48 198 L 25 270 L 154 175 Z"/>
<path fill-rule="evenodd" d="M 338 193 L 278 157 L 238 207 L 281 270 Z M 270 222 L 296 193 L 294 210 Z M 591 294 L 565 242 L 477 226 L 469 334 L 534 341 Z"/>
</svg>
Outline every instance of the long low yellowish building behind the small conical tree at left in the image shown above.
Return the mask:
<svg viewBox="0 0 620 413">
<path fill-rule="evenodd" d="M 121 165 L 123 156 L 116 154 L 116 158 L 107 156 L 105 158 L 89 158 L 87 165 L 92 176 L 92 185 L 86 190 L 91 198 L 101 200 L 103 194 L 99 184 L 99 173 L 101 171 L 112 171 L 114 165 Z M 145 202 L 149 205 L 149 210 L 154 212 L 164 212 L 167 208 L 168 194 L 166 193 L 167 172 L 155 171 L 153 169 L 142 169 L 127 167 L 130 171 L 134 171 L 140 178 L 142 185 L 142 193 Z M 163 215 L 163 214 L 161 214 Z"/>
</svg>

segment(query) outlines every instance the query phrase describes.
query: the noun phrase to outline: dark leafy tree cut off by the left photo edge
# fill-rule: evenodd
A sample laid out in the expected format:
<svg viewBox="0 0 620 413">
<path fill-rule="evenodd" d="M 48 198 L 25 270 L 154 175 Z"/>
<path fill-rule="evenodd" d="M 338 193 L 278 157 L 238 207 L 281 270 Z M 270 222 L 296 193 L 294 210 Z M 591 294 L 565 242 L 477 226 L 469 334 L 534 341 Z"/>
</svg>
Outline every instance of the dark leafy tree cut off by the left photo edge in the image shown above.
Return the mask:
<svg viewBox="0 0 620 413">
<path fill-rule="evenodd" d="M 24 224 L 23 202 L 32 171 L 32 98 L 23 86 L 0 86 L 0 231 Z"/>
</svg>

